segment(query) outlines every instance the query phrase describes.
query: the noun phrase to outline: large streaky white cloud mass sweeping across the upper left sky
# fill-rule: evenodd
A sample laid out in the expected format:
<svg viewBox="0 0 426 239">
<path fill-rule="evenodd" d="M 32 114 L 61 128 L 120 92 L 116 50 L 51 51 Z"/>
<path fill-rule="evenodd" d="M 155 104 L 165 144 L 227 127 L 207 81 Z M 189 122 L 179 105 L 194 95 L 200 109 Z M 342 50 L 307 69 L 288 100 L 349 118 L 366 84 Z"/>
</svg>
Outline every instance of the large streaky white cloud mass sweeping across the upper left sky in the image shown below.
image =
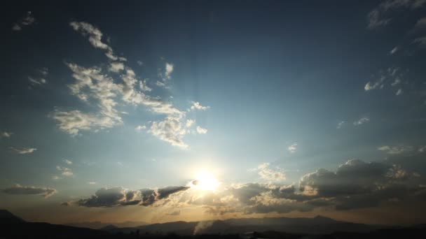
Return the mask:
<svg viewBox="0 0 426 239">
<path fill-rule="evenodd" d="M 159 96 L 147 95 L 147 92 L 151 92 L 151 88 L 146 85 L 146 80 L 139 79 L 135 71 L 127 66 L 124 58 L 114 55 L 111 46 L 102 41 L 103 34 L 97 27 L 87 22 L 71 22 L 70 25 L 75 31 L 87 36 L 95 48 L 105 51 L 105 55 L 112 61 L 109 63 L 108 71 L 121 73 L 118 75 L 121 82 L 117 82 L 100 67 L 83 67 L 66 63 L 75 80 L 68 85 L 71 94 L 88 105 L 95 104 L 98 110 L 94 113 L 85 113 L 80 110 L 66 111 L 56 108 L 49 116 L 57 121 L 59 129 L 76 136 L 81 131 L 98 131 L 123 124 L 117 107 L 119 103 L 124 103 L 144 106 L 153 114 L 165 115 L 164 119 L 151 121 L 151 126 L 146 126 L 149 127 L 148 132 L 171 145 L 188 147 L 183 141 L 183 137 L 189 132 L 184 129 L 186 113 Z M 163 82 L 171 78 L 173 71 L 174 65 L 166 62 L 165 72 L 161 75 Z M 205 106 L 199 103 L 196 107 L 205 109 Z M 142 126 L 138 129 L 141 130 Z"/>
</svg>

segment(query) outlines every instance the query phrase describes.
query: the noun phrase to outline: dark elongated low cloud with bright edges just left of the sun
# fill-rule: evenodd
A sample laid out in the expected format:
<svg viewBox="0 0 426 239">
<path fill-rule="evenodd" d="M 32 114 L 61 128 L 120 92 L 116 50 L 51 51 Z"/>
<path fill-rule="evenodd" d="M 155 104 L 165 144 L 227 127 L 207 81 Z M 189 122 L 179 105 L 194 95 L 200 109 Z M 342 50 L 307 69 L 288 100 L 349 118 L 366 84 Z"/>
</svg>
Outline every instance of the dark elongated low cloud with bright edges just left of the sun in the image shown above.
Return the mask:
<svg viewBox="0 0 426 239">
<path fill-rule="evenodd" d="M 185 191 L 189 187 L 165 187 L 161 189 L 130 190 L 123 187 L 102 188 L 90 198 L 76 201 L 76 205 L 85 207 L 114 207 L 118 205 L 149 206 L 163 201 L 172 194 Z"/>
</svg>

